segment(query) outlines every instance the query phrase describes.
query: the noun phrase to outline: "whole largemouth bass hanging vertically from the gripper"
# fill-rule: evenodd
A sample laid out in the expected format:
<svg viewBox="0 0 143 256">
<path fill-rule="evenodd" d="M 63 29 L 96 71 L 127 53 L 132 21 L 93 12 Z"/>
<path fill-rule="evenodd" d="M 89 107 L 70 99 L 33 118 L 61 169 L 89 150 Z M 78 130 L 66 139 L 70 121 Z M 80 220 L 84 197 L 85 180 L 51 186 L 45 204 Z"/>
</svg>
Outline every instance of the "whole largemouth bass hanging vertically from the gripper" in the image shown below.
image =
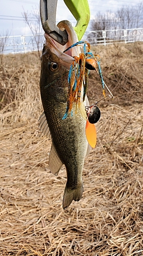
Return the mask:
<svg viewBox="0 0 143 256">
<path fill-rule="evenodd" d="M 58 26 L 60 29 L 66 29 L 69 41 L 65 46 L 61 46 L 44 34 L 46 42 L 42 51 L 40 75 L 44 112 L 39 118 L 39 127 L 52 139 L 49 154 L 51 173 L 58 175 L 62 165 L 66 166 L 67 183 L 63 198 L 63 208 L 66 209 L 72 200 L 79 201 L 82 197 L 82 169 L 88 142 L 85 137 L 86 121 L 78 107 L 75 114 L 75 103 L 73 103 L 73 116 L 68 115 L 66 120 L 62 120 L 67 105 L 68 72 L 74 60 L 72 56 L 78 56 L 80 50 L 77 46 L 63 53 L 78 39 L 67 20 Z"/>
</svg>

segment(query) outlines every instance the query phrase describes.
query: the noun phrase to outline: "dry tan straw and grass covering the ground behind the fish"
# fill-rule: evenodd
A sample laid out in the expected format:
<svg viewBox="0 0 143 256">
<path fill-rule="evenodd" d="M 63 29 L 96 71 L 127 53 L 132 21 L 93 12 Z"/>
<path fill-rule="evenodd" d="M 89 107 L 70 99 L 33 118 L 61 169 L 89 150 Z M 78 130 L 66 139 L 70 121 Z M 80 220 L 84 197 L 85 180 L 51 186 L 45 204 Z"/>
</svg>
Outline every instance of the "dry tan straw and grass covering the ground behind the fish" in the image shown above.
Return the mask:
<svg viewBox="0 0 143 256">
<path fill-rule="evenodd" d="M 64 211 L 66 170 L 50 174 L 41 135 L 40 62 L 5 56 L 1 67 L 0 255 L 143 255 L 143 43 L 96 47 L 115 95 L 101 101 L 97 146 L 85 159 L 84 192 Z M 90 73 L 90 103 L 101 99 Z"/>
</svg>

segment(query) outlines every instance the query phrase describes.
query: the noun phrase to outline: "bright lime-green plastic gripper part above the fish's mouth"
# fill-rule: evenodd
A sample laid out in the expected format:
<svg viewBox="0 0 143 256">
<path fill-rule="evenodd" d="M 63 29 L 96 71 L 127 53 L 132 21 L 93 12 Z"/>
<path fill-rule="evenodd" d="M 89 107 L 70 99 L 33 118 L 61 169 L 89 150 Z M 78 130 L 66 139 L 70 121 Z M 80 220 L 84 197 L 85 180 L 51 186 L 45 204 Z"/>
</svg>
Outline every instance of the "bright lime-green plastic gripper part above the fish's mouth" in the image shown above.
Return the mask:
<svg viewBox="0 0 143 256">
<path fill-rule="evenodd" d="M 64 0 L 64 2 L 77 21 L 73 29 L 78 40 L 81 40 L 90 20 L 88 0 Z"/>
</svg>

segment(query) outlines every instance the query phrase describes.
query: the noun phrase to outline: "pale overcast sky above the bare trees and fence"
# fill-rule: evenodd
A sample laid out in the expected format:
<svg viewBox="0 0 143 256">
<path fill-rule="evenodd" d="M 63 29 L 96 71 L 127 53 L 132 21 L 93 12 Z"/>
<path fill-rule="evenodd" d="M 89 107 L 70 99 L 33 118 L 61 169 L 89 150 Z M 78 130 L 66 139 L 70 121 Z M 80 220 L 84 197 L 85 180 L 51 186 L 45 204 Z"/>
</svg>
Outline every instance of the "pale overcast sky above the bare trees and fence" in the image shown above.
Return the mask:
<svg viewBox="0 0 143 256">
<path fill-rule="evenodd" d="M 51 0 L 52 1 L 52 0 Z M 77 0 L 78 1 L 78 0 Z M 80 0 L 79 0 L 80 1 Z M 136 6 L 140 0 L 89 0 L 91 19 L 96 16 L 97 12 L 105 13 L 108 10 L 117 11 L 123 6 Z M 0 35 L 5 35 L 9 31 L 10 35 L 27 35 L 31 34 L 27 25 L 23 22 L 23 11 L 31 13 L 33 8 L 39 9 L 40 0 L 1 0 L 0 8 Z M 57 22 L 68 19 L 73 26 L 76 21 L 63 0 L 58 0 Z M 87 29 L 91 30 L 90 26 Z"/>
</svg>

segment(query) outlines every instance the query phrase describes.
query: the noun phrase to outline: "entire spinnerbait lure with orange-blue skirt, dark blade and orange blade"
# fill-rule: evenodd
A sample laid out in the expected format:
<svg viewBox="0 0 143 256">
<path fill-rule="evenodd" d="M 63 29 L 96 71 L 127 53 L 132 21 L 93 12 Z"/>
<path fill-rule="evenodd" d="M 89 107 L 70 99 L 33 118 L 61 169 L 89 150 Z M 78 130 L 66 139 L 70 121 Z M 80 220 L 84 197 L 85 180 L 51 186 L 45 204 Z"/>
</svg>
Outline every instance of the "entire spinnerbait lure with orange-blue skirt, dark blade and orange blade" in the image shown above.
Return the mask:
<svg viewBox="0 0 143 256">
<path fill-rule="evenodd" d="M 87 94 L 88 89 L 88 75 L 90 70 L 95 70 L 97 74 L 100 76 L 103 95 L 105 96 L 104 85 L 107 88 L 105 82 L 103 81 L 101 68 L 100 68 L 100 57 L 99 55 L 94 55 L 90 51 L 90 44 L 87 41 L 79 41 L 67 48 L 64 52 L 68 51 L 72 47 L 83 45 L 83 53 L 79 54 L 79 57 L 74 56 L 74 61 L 70 66 L 69 74 L 68 74 L 68 97 L 67 97 L 67 106 L 66 112 L 63 116 L 62 120 L 66 119 L 68 113 L 71 113 L 72 116 L 72 104 L 76 102 L 76 110 L 77 105 L 80 108 L 81 102 L 81 91 L 83 92 L 82 102 L 85 100 L 85 95 Z M 83 87 L 83 88 L 82 88 Z M 109 91 L 109 89 L 107 88 Z M 109 91 L 110 98 L 112 98 L 112 94 Z M 102 99 L 101 99 L 102 100 Z M 100 100 L 99 100 L 100 101 Z M 98 102 L 99 102 L 98 101 Z M 96 129 L 94 123 L 98 122 L 100 119 L 100 110 L 97 106 L 97 103 L 94 103 L 90 106 L 85 106 L 85 112 L 87 114 L 87 122 L 85 125 L 85 135 L 87 137 L 88 143 L 91 147 L 96 146 Z M 76 113 L 75 110 L 75 113 Z"/>
</svg>

